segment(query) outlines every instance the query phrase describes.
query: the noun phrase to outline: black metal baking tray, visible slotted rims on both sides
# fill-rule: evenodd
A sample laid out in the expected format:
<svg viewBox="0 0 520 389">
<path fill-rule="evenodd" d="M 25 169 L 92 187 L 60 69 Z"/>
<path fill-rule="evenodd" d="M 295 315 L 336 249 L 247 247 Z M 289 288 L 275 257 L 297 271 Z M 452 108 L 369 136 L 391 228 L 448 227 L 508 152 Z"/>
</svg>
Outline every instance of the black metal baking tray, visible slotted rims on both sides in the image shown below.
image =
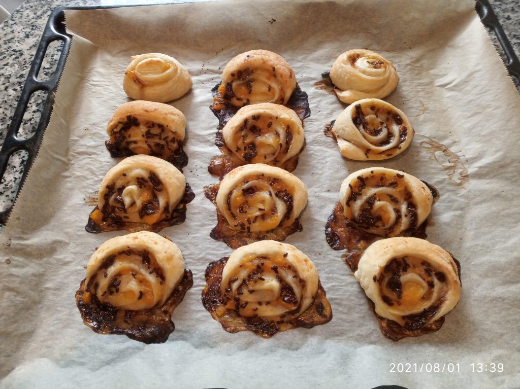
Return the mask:
<svg viewBox="0 0 520 389">
<path fill-rule="evenodd" d="M 124 7 L 133 6 L 137 5 Z M 66 9 L 81 10 L 119 7 L 121 6 L 60 7 L 55 9 L 50 14 L 42 38 L 40 40 L 40 44 L 38 44 L 38 47 L 36 49 L 36 54 L 34 56 L 34 60 L 29 70 L 29 75 L 27 76 L 27 80 L 25 81 L 25 85 L 23 86 L 20 100 L 18 101 L 15 113 L 12 116 L 11 124 L 7 131 L 4 144 L 2 145 L 2 149 L 0 149 L 0 180 L 5 175 L 9 157 L 13 153 L 19 150 L 24 150 L 28 153 L 27 163 L 25 164 L 23 169 L 16 197 L 18 197 L 18 194 L 20 193 L 20 189 L 23 186 L 25 178 L 27 177 L 32 163 L 34 162 L 34 158 L 38 153 L 38 149 L 40 148 L 40 144 L 42 142 L 45 129 L 49 124 L 50 115 L 53 112 L 53 104 L 56 95 L 56 89 L 58 88 L 59 79 L 61 77 L 61 73 L 63 72 L 67 56 L 69 54 L 72 36 L 67 34 L 67 32 L 65 31 L 63 11 Z M 502 29 L 502 26 L 500 25 L 497 16 L 491 8 L 491 5 L 489 4 L 488 0 L 477 0 L 476 10 L 478 12 L 478 16 L 480 17 L 484 25 L 490 28 L 497 36 L 498 42 L 502 46 L 506 58 L 504 61 L 504 65 L 506 69 L 508 69 L 509 74 L 520 80 L 520 62 L 518 61 L 518 57 L 516 57 L 513 47 L 511 46 L 509 39 L 506 37 L 504 30 Z M 58 59 L 56 70 L 46 81 L 38 81 L 36 77 L 42 67 L 47 48 L 51 42 L 55 41 L 63 42 L 62 51 Z M 29 100 L 33 93 L 40 90 L 47 91 L 47 99 L 44 103 L 42 115 L 40 117 L 40 121 L 37 124 L 36 131 L 34 132 L 34 135 L 32 135 L 28 139 L 19 139 L 17 137 L 17 133 L 22 123 L 24 113 L 27 110 Z M 5 209 L 4 211 L 0 211 L 0 224 L 5 225 L 13 205 L 14 201 L 7 209 Z"/>
</svg>

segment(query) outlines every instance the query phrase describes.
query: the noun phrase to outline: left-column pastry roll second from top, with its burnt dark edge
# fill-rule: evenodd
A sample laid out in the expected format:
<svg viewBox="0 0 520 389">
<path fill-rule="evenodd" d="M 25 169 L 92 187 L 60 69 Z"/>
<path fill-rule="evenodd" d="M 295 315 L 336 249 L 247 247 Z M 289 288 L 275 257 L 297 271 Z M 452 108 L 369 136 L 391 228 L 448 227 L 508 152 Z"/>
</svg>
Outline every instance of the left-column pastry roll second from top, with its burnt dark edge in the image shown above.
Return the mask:
<svg viewBox="0 0 520 389">
<path fill-rule="evenodd" d="M 186 118 L 175 107 L 137 100 L 124 103 L 115 110 L 107 126 L 110 137 L 105 142 L 113 158 L 135 154 L 153 155 L 178 168 L 186 166 L 183 151 Z"/>
</svg>

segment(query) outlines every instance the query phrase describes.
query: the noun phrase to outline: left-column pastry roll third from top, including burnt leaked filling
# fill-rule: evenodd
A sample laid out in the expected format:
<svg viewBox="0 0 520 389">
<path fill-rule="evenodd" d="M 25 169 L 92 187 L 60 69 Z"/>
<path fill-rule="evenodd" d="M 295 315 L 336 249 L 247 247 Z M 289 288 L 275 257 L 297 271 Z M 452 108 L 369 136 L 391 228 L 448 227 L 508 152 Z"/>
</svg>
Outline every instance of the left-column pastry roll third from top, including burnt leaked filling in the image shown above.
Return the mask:
<svg viewBox="0 0 520 389">
<path fill-rule="evenodd" d="M 194 195 L 175 166 L 149 155 L 134 155 L 111 168 L 101 181 L 97 207 L 86 230 L 160 231 L 185 220 Z"/>
</svg>

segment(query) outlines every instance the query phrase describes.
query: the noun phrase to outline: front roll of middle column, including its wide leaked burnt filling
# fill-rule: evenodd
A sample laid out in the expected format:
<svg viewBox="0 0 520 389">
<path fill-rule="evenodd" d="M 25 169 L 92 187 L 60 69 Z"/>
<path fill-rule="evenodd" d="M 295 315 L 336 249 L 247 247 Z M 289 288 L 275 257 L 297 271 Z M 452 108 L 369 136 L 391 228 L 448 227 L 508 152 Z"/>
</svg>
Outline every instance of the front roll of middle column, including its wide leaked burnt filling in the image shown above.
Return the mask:
<svg viewBox="0 0 520 389">
<path fill-rule="evenodd" d="M 314 263 L 296 247 L 274 240 L 243 246 L 210 263 L 202 302 L 226 331 L 252 330 L 265 338 L 332 318 Z"/>
</svg>

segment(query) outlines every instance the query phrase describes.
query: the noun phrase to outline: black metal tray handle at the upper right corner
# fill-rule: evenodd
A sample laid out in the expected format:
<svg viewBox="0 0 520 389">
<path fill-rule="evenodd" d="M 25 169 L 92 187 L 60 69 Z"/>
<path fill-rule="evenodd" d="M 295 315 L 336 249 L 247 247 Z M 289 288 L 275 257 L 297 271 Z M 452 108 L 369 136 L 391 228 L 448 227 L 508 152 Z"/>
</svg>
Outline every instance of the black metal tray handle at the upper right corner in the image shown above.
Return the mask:
<svg viewBox="0 0 520 389">
<path fill-rule="evenodd" d="M 488 0 L 477 0 L 475 8 L 482 23 L 493 30 L 497 36 L 498 42 L 500 43 L 500 46 L 502 46 L 502 50 L 504 50 L 504 54 L 507 58 L 504 65 L 506 69 L 508 69 L 509 74 L 515 76 L 518 81 L 520 81 L 520 62 L 513 50 L 511 42 L 509 42 L 508 37 L 502 29 L 502 25 L 498 21 L 497 15 L 495 15 L 495 11 L 493 11 Z"/>
</svg>

